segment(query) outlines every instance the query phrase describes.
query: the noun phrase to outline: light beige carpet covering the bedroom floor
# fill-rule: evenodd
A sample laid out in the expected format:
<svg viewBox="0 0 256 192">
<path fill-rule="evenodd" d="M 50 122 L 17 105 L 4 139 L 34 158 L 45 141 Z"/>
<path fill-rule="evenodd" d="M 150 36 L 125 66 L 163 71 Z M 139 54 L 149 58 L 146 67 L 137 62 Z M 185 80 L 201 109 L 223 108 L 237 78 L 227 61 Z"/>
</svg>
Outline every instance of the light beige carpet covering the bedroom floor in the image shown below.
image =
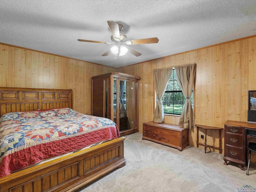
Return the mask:
<svg viewBox="0 0 256 192">
<path fill-rule="evenodd" d="M 256 188 L 256 169 L 249 176 L 236 164 L 224 165 L 223 155 L 203 149 L 174 148 L 142 140 L 142 134 L 126 137 L 126 166 L 118 168 L 79 192 L 237 192 Z"/>
</svg>

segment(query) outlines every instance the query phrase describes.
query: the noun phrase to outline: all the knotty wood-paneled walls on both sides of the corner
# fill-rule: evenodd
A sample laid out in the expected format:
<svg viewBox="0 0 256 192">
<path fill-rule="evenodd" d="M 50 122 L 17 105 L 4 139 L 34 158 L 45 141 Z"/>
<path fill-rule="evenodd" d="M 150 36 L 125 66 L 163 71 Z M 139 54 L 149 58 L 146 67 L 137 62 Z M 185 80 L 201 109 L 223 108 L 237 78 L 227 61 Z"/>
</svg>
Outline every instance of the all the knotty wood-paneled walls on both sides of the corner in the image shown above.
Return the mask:
<svg viewBox="0 0 256 192">
<path fill-rule="evenodd" d="M 224 127 L 226 120 L 246 122 L 248 90 L 256 90 L 256 37 L 118 69 L 0 44 L 0 86 L 72 89 L 74 109 L 91 114 L 92 76 L 109 72 L 140 76 L 139 130 L 142 132 L 142 123 L 151 121 L 154 115 L 153 70 L 193 62 L 197 65 L 196 124 Z M 165 115 L 165 122 L 178 124 L 179 116 Z M 196 146 L 196 129 L 190 130 L 189 141 L 190 146 Z M 218 132 L 208 131 L 207 142 L 218 145 Z M 224 148 L 224 131 L 222 145 Z"/>
</svg>

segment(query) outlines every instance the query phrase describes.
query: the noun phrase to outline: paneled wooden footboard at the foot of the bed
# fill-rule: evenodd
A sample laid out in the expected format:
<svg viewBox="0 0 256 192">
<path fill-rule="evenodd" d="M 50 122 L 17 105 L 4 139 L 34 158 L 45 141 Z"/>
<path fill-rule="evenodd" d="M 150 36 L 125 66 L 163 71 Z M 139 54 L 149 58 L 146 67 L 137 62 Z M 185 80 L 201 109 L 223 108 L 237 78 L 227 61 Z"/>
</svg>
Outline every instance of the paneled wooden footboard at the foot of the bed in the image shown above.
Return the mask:
<svg viewBox="0 0 256 192">
<path fill-rule="evenodd" d="M 0 192 L 74 191 L 125 165 L 124 137 L 0 178 Z"/>
</svg>

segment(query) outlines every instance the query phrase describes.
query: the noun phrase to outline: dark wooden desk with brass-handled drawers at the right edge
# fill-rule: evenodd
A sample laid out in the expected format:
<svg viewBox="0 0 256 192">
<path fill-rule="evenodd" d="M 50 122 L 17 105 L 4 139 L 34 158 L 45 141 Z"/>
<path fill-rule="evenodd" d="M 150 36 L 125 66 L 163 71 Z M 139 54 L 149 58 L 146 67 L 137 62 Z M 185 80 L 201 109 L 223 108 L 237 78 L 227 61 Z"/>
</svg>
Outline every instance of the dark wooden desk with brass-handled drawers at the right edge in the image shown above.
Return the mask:
<svg viewBox="0 0 256 192">
<path fill-rule="evenodd" d="M 236 162 L 242 170 L 244 170 L 244 166 L 247 164 L 245 128 L 256 129 L 256 124 L 228 120 L 225 123 L 224 130 L 224 164 L 228 165 L 228 161 Z"/>
</svg>

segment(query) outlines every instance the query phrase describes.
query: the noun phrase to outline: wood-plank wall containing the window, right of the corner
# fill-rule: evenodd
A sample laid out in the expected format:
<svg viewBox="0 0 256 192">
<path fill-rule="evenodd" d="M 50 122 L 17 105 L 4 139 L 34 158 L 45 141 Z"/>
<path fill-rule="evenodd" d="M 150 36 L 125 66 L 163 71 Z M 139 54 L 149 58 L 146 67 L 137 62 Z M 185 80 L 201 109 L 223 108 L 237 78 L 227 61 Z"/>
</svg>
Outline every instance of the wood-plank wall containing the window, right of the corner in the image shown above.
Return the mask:
<svg viewBox="0 0 256 192">
<path fill-rule="evenodd" d="M 247 122 L 248 90 L 256 90 L 256 37 L 118 68 L 118 72 L 141 77 L 140 132 L 142 123 L 151 121 L 154 115 L 153 70 L 193 62 L 197 65 L 194 98 L 196 124 L 224 128 L 226 120 Z M 165 115 L 165 122 L 178 124 L 179 116 Z M 207 143 L 218 146 L 218 131 L 208 131 L 207 135 Z M 190 146 L 196 146 L 196 129 L 189 131 L 189 142 Z"/>
</svg>

